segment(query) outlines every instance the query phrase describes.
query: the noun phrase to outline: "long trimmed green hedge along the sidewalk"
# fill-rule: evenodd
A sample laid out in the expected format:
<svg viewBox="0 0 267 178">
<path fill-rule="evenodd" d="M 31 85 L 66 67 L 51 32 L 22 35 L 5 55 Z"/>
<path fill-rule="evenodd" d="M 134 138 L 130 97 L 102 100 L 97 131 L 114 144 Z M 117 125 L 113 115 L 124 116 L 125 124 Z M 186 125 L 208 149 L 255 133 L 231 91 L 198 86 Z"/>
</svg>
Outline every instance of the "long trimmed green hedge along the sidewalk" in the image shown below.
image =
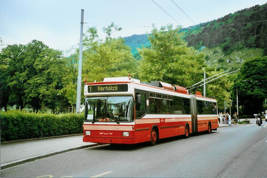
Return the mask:
<svg viewBox="0 0 267 178">
<path fill-rule="evenodd" d="M 83 133 L 83 114 L 0 112 L 1 142 Z"/>
</svg>

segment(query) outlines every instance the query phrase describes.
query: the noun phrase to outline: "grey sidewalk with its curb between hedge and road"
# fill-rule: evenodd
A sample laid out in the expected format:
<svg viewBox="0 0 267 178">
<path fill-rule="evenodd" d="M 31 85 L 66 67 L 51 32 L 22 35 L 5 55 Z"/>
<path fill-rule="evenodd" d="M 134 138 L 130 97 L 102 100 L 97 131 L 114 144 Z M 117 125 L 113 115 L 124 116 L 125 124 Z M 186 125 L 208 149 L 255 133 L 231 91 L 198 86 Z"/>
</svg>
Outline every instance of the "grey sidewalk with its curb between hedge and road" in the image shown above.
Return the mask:
<svg viewBox="0 0 267 178">
<path fill-rule="evenodd" d="M 7 143 L 1 142 L 1 169 L 51 155 L 97 145 L 99 144 L 83 142 L 83 135 L 48 139 L 29 139 Z"/>
</svg>

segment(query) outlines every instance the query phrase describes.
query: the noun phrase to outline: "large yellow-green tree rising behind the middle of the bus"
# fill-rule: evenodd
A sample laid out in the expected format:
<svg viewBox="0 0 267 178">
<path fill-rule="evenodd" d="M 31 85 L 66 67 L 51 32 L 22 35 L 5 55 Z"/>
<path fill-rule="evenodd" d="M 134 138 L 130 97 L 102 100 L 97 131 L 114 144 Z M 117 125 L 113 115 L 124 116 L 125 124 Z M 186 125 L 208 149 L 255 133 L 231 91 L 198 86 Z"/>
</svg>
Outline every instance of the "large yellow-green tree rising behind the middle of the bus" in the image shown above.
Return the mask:
<svg viewBox="0 0 267 178">
<path fill-rule="evenodd" d="M 204 55 L 197 52 L 181 39 L 180 28 L 172 25 L 153 25 L 148 39 L 151 47 L 138 49 L 140 56 L 139 77 L 143 81 L 163 81 L 180 86 L 190 86 L 202 78 Z"/>
</svg>

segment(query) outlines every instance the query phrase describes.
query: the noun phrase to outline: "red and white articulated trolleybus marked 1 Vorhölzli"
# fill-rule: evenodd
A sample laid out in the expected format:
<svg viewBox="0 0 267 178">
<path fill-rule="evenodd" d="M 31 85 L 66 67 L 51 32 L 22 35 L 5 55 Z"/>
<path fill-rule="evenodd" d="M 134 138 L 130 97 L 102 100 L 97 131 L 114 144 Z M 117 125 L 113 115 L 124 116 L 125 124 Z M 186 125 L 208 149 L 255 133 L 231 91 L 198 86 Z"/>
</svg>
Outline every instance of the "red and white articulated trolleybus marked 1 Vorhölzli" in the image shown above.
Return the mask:
<svg viewBox="0 0 267 178">
<path fill-rule="evenodd" d="M 218 128 L 215 99 L 184 87 L 128 77 L 84 86 L 83 142 L 135 144 Z"/>
</svg>

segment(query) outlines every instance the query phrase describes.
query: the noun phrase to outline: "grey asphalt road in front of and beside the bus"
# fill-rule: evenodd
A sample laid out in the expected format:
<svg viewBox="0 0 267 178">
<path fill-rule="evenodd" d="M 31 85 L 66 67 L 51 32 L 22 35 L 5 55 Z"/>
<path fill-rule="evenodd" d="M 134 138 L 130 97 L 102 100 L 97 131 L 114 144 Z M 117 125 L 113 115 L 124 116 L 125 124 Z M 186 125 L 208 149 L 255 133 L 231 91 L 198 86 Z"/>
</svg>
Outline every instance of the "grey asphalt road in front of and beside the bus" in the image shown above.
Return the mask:
<svg viewBox="0 0 267 178">
<path fill-rule="evenodd" d="M 1 177 L 267 177 L 267 122 L 155 146 L 102 145 L 24 163 Z"/>
</svg>

